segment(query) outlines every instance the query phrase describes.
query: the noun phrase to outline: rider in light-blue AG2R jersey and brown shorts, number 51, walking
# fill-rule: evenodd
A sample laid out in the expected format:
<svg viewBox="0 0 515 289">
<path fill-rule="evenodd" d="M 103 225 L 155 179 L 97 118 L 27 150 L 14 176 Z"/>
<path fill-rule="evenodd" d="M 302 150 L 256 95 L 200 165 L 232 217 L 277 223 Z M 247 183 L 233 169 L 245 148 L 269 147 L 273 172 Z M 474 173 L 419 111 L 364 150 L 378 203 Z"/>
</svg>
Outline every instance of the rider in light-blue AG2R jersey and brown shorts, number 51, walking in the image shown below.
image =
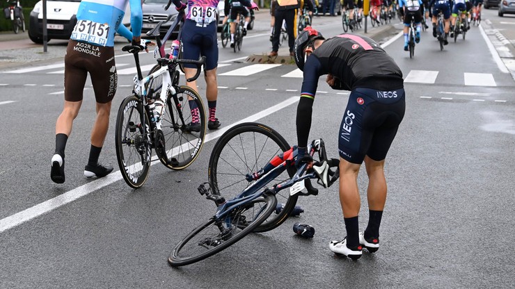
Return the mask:
<svg viewBox="0 0 515 289">
<path fill-rule="evenodd" d="M 122 24 L 125 8 L 131 8 L 132 32 Z M 65 181 L 65 147 L 72 132 L 73 121 L 81 108 L 88 73 L 97 101 L 97 117 L 91 130 L 91 146 L 84 175 L 101 178 L 113 171 L 100 165 L 98 157 L 107 130 L 111 101 L 116 93 L 118 74 L 114 60 L 115 33 L 140 44 L 143 12 L 141 0 L 82 0 L 77 12 L 77 24 L 72 31 L 65 55 L 65 103 L 56 122 L 56 151 L 51 160 L 50 178 L 55 183 Z"/>
</svg>

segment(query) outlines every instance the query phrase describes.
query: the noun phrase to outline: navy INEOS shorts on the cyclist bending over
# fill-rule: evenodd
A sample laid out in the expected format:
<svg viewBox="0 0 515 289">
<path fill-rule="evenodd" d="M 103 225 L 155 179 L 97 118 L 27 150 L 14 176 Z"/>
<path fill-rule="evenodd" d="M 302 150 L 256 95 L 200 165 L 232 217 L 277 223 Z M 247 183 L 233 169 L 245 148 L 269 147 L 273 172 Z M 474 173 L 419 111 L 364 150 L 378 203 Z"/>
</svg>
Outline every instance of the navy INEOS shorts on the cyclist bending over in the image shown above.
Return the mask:
<svg viewBox="0 0 515 289">
<path fill-rule="evenodd" d="M 363 163 L 365 156 L 384 160 L 404 117 L 405 107 L 404 88 L 353 90 L 340 125 L 340 156 L 358 164 Z"/>
</svg>

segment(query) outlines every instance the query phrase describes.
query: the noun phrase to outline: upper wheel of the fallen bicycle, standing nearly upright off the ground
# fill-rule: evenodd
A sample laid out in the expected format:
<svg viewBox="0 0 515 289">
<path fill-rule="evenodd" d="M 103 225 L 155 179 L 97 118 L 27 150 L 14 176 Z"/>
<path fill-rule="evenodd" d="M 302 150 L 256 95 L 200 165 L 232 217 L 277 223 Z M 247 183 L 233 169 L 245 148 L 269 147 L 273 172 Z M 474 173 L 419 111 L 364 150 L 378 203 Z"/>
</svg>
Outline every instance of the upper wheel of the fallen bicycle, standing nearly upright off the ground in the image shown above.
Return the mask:
<svg viewBox="0 0 515 289">
<path fill-rule="evenodd" d="M 209 158 L 208 177 L 212 191 L 232 199 L 254 183 L 246 180 L 246 174 L 257 172 L 271 158 L 289 149 L 283 136 L 264 124 L 247 122 L 232 127 L 216 142 Z M 276 177 L 274 183 L 290 179 L 294 172 L 292 166 Z M 282 224 L 292 213 L 298 197 L 290 196 L 289 190 L 278 192 L 276 198 L 278 203 L 285 204 L 283 210 L 272 214 L 255 231 L 270 231 Z"/>
</svg>

